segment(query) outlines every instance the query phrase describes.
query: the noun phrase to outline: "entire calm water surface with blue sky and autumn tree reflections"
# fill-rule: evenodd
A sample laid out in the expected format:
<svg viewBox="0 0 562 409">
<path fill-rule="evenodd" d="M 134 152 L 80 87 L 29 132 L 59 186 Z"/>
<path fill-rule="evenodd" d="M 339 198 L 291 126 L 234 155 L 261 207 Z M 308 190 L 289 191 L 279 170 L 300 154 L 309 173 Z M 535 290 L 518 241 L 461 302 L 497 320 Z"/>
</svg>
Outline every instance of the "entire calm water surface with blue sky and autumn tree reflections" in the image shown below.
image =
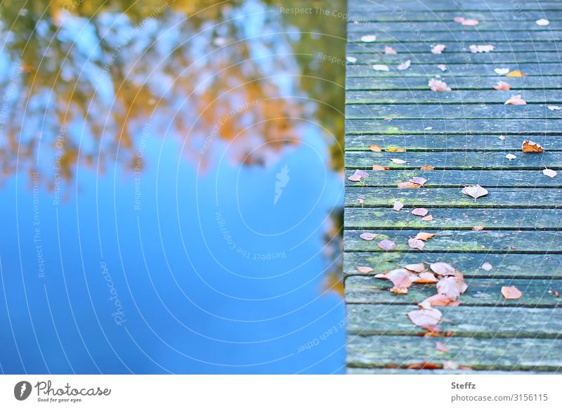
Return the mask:
<svg viewBox="0 0 562 409">
<path fill-rule="evenodd" d="M 0 372 L 343 372 L 344 1 L 24 3 Z"/>
</svg>

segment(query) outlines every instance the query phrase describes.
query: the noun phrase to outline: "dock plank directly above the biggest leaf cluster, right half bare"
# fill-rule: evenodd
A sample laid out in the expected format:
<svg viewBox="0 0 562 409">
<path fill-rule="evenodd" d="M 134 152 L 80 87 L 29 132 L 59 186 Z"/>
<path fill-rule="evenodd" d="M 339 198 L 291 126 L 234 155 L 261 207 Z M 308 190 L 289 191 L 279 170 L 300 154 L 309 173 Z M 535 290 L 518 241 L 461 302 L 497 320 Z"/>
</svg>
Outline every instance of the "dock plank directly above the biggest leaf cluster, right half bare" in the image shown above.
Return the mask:
<svg viewBox="0 0 562 409">
<path fill-rule="evenodd" d="M 429 228 L 424 231 L 436 235 L 426 241 L 423 251 L 412 249 L 408 245 L 408 238 L 417 235 L 419 230 L 346 230 L 344 246 L 347 252 L 383 252 L 377 242 L 388 239 L 396 242 L 396 250 L 393 251 L 417 254 L 429 252 L 559 254 L 562 252 L 562 231 L 438 231 Z M 362 232 L 379 233 L 379 235 L 376 240 L 366 241 L 359 238 Z"/>
</svg>

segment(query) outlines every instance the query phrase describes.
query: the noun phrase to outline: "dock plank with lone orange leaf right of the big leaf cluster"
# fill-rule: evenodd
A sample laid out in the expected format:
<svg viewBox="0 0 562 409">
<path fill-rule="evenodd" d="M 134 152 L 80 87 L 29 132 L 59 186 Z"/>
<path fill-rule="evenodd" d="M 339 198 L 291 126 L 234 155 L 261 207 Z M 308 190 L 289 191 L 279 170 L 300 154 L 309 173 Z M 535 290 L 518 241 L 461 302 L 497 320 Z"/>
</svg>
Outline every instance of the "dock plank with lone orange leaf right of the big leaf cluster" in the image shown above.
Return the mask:
<svg viewBox="0 0 562 409">
<path fill-rule="evenodd" d="M 553 290 L 562 290 L 562 280 L 525 279 L 467 279 L 466 290 L 460 299 L 462 306 L 562 306 L 562 298 Z M 515 285 L 523 297 L 505 299 L 502 287 Z M 352 275 L 346 278 L 346 303 L 348 304 L 405 304 L 416 306 L 436 294 L 435 285 L 412 285 L 407 294 L 394 294 L 392 283 L 372 276 Z"/>
</svg>

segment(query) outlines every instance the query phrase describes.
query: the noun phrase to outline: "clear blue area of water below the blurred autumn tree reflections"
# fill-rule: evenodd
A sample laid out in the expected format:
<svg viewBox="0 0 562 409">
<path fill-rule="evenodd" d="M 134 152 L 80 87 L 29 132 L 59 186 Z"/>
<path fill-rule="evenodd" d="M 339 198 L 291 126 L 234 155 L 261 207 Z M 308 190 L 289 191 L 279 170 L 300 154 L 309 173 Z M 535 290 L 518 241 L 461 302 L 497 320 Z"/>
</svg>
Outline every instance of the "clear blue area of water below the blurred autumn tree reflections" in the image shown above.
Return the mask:
<svg viewBox="0 0 562 409">
<path fill-rule="evenodd" d="M 10 60 L 0 61 L 6 84 Z M 292 87 L 280 92 L 301 96 Z M 45 141 L 32 160 L 57 176 L 56 130 L 33 119 L 22 129 Z M 342 372 L 342 299 L 322 284 L 343 183 L 325 130 L 303 120 L 300 143 L 243 164 L 237 140 L 188 155 L 177 130 L 158 131 L 168 120 L 145 120 L 133 156 L 142 170 L 115 148 L 103 166 L 78 161 L 53 191 L 23 155 L 11 158 L 20 165 L 0 184 L 0 372 Z M 89 150 L 84 123 L 67 136 Z"/>
</svg>

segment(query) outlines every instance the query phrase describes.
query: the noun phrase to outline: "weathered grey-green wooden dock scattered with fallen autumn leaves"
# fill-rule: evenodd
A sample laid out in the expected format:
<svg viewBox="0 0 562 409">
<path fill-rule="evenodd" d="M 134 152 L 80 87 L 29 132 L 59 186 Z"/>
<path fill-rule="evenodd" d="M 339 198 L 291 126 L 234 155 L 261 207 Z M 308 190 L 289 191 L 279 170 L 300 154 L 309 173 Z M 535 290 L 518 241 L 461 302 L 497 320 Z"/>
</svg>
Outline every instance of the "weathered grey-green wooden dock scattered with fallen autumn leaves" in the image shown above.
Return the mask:
<svg viewBox="0 0 562 409">
<path fill-rule="evenodd" d="M 562 3 L 349 0 L 348 15 L 348 373 L 561 372 Z M 432 91 L 431 79 L 450 91 Z M 526 105 L 506 105 L 516 95 Z M 544 152 L 523 152 L 525 140 Z M 356 170 L 368 176 L 348 180 Z M 488 194 L 462 193 L 476 185 Z M 420 232 L 435 236 L 410 247 Z M 379 247 L 384 239 L 396 248 Z M 421 261 L 436 280 L 451 275 L 431 263 L 464 275 L 458 306 L 419 306 L 435 284 L 396 294 L 375 277 Z M 507 299 L 502 287 L 523 295 Z M 408 318 L 422 309 L 442 313 L 438 329 Z"/>
</svg>

